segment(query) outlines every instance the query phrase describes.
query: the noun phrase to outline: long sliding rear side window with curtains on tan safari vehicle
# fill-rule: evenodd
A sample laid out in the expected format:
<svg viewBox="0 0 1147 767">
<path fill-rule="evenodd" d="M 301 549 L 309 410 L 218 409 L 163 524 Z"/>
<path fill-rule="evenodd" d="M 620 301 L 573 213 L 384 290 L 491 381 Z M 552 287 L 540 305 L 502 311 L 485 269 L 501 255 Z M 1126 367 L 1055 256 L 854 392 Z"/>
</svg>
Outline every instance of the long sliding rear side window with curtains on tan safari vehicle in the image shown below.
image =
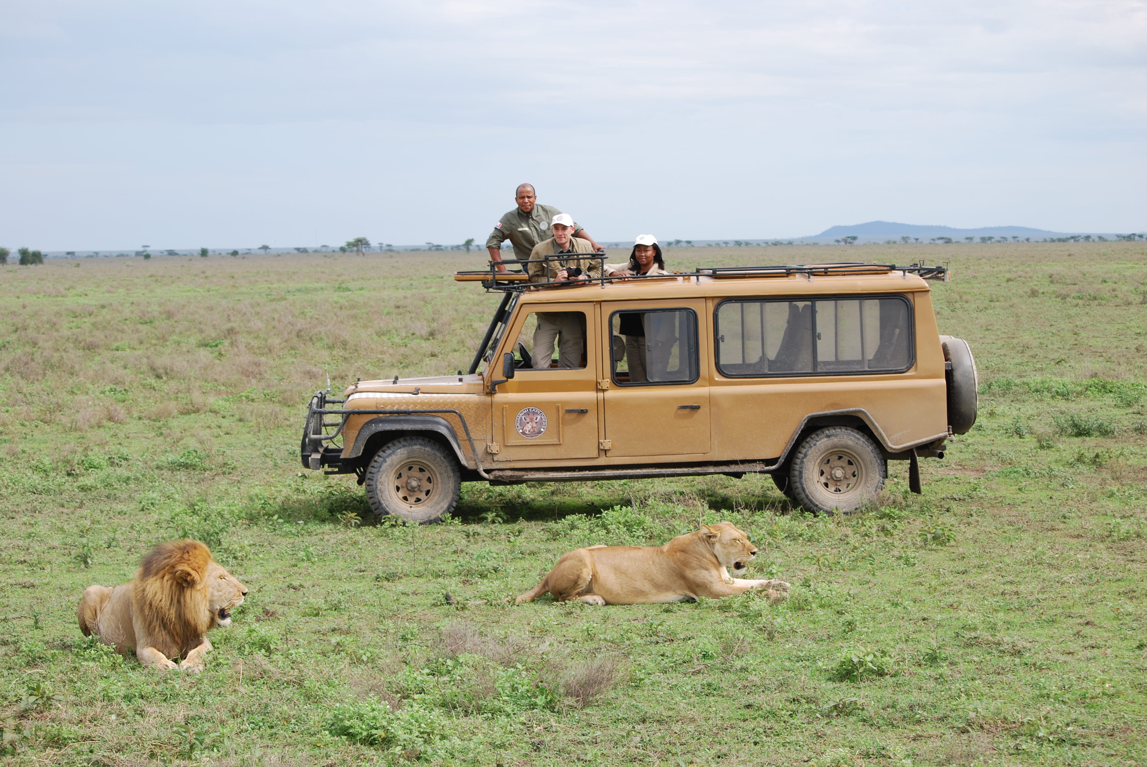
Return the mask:
<svg viewBox="0 0 1147 767">
<path fill-rule="evenodd" d="M 902 296 L 733 299 L 716 326 L 717 369 L 729 377 L 895 373 L 914 359 Z"/>
</svg>

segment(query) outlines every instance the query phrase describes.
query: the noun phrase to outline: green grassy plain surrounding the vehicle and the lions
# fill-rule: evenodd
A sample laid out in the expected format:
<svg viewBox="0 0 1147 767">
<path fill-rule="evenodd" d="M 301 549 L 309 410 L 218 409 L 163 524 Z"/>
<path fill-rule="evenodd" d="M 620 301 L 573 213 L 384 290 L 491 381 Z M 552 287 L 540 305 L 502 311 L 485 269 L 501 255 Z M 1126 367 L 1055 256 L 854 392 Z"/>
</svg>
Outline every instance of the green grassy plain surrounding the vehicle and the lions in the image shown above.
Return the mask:
<svg viewBox="0 0 1147 767">
<path fill-rule="evenodd" d="M 0 754 L 13 765 L 1147 765 L 1147 248 L 678 249 L 671 267 L 951 263 L 981 420 L 922 498 L 813 518 L 767 478 L 491 488 L 357 524 L 302 472 L 329 374 L 466 367 L 477 255 L 0 268 Z M 794 584 L 506 603 L 563 551 L 729 519 Z M 197 678 L 84 641 L 84 587 L 193 534 L 247 582 Z M 754 577 L 754 576 L 750 576 Z M 446 594 L 453 604 L 448 604 Z"/>
</svg>

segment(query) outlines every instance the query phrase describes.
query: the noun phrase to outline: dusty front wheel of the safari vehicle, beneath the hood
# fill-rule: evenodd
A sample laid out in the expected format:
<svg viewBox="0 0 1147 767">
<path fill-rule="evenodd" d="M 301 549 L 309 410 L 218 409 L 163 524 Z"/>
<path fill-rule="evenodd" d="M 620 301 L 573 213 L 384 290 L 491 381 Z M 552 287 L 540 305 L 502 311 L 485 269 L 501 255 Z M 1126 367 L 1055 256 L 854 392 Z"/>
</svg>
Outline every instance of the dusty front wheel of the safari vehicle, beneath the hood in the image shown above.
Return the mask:
<svg viewBox="0 0 1147 767">
<path fill-rule="evenodd" d="M 409 522 L 436 522 L 458 503 L 462 485 L 458 461 L 424 437 L 403 437 L 370 460 L 366 496 L 380 519 L 393 515 Z"/>
</svg>

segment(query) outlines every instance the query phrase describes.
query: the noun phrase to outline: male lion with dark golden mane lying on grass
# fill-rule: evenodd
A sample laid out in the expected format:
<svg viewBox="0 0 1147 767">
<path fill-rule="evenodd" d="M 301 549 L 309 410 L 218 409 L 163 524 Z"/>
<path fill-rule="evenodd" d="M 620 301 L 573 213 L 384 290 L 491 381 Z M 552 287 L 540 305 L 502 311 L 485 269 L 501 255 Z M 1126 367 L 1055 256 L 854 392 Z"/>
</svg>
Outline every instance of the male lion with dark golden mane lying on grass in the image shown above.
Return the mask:
<svg viewBox="0 0 1147 767">
<path fill-rule="evenodd" d="M 79 629 L 123 655 L 134 648 L 145 666 L 198 673 L 211 650 L 208 629 L 229 626 L 231 610 L 245 595 L 247 587 L 211 558 L 206 546 L 169 541 L 143 557 L 130 584 L 84 589 Z"/>
</svg>

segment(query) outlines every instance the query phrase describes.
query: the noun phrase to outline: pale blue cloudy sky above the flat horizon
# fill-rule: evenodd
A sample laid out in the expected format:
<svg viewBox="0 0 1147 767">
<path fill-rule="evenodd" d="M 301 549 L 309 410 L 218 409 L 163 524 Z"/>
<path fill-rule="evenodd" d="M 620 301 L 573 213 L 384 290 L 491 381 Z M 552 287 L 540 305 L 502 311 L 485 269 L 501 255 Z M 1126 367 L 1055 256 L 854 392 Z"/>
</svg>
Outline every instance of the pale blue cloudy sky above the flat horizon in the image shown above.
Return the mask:
<svg viewBox="0 0 1147 767">
<path fill-rule="evenodd" d="M 0 6 L 0 243 L 1147 226 L 1144 2 Z"/>
</svg>

